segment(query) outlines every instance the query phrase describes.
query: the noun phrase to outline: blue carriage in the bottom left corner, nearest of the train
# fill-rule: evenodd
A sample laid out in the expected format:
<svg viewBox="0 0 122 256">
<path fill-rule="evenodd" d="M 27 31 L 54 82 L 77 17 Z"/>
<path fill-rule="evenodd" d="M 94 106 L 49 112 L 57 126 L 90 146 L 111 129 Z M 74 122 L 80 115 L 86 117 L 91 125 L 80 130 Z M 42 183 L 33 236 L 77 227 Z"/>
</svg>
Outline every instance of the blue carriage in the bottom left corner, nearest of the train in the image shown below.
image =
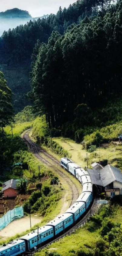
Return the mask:
<svg viewBox="0 0 122 256">
<path fill-rule="evenodd" d="M 18 239 L 0 246 L 0 256 L 16 256 L 25 252 L 25 241 Z"/>
</svg>

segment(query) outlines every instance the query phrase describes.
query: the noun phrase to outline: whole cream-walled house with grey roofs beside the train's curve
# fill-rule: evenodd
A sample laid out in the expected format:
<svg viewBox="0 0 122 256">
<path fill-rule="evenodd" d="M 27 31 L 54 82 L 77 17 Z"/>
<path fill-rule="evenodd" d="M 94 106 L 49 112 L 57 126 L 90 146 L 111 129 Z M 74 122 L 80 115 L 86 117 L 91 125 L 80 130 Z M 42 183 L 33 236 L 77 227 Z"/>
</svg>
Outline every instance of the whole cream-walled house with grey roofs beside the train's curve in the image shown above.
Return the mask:
<svg viewBox="0 0 122 256">
<path fill-rule="evenodd" d="M 122 173 L 121 171 L 107 164 L 105 167 L 98 163 L 92 164 L 93 169 L 87 169 L 91 176 L 91 182 L 101 188 L 104 188 L 108 197 L 122 195 Z"/>
</svg>

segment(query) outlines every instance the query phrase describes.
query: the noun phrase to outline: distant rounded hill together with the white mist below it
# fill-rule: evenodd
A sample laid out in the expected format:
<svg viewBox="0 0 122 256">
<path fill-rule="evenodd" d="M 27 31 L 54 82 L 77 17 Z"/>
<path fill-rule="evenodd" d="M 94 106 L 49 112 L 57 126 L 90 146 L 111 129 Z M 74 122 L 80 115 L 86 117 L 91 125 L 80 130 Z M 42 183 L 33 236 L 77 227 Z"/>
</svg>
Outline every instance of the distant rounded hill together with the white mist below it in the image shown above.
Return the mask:
<svg viewBox="0 0 122 256">
<path fill-rule="evenodd" d="M 6 10 L 5 12 L 0 12 L 0 36 L 4 31 L 13 29 L 19 25 L 25 25 L 30 20 L 38 20 L 38 18 L 46 18 L 48 15 L 33 18 L 28 11 L 20 10 L 18 8 Z"/>
</svg>

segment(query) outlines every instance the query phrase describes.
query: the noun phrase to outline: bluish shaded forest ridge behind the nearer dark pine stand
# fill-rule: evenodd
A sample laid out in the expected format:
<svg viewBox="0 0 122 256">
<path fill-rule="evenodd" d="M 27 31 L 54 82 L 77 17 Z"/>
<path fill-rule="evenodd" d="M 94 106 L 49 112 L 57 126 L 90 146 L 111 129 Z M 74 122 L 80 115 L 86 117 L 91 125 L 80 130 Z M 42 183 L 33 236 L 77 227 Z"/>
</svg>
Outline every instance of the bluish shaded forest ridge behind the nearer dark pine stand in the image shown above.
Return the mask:
<svg viewBox="0 0 122 256">
<path fill-rule="evenodd" d="M 63 35 L 72 23 L 79 24 L 86 16 L 94 17 L 100 10 L 105 10 L 111 4 L 115 4 L 115 1 L 77 0 L 68 9 L 62 10 L 60 7 L 56 15 L 51 14 L 45 19 L 31 20 L 25 25 L 17 26 L 12 30 L 9 29 L 2 34 L 0 38 L 0 64 L 5 78 L 7 81 L 9 80 L 8 86 L 14 92 L 13 103 L 16 113 L 30 104 L 25 94 L 30 90 L 28 73 L 31 66 L 31 54 L 37 40 L 40 43 L 48 43 L 52 31 L 58 31 Z M 104 11 L 102 13 L 104 15 Z M 16 94 L 16 85 L 19 96 Z"/>
</svg>

